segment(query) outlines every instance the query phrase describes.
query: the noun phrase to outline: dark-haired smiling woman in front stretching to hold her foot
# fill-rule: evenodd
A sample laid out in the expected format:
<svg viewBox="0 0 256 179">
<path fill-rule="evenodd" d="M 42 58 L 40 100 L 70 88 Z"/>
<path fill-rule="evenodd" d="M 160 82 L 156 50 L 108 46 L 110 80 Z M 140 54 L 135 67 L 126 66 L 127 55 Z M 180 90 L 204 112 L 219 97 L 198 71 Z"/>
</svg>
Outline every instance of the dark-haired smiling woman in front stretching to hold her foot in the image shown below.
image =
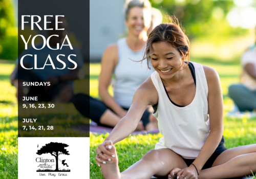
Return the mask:
<svg viewBox="0 0 256 179">
<path fill-rule="evenodd" d="M 216 179 L 256 171 L 255 144 L 230 149 L 224 146 L 223 99 L 217 72 L 185 61 L 188 58 L 189 41 L 176 17 L 151 32 L 144 59 L 156 72 L 138 88 L 128 113 L 96 148 L 96 161 L 106 179 L 152 175 Z M 147 105 L 154 105 L 153 116 L 163 138 L 155 150 L 120 173 L 113 144 L 134 131 Z"/>
</svg>

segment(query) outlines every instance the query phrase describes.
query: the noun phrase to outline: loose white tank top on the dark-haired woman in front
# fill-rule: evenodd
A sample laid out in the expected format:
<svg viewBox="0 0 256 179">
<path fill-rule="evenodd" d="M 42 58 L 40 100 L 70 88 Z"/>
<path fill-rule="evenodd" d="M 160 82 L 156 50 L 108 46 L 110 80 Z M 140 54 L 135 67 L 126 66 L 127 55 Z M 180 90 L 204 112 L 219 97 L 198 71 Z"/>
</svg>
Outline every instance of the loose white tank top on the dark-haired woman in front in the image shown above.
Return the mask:
<svg viewBox="0 0 256 179">
<path fill-rule="evenodd" d="M 169 148 L 184 159 L 196 159 L 210 132 L 208 117 L 208 86 L 203 66 L 193 63 L 196 73 L 196 95 L 185 107 L 178 107 L 168 99 L 157 72 L 151 79 L 158 92 L 158 108 L 153 114 L 163 138 L 155 149 Z"/>
</svg>

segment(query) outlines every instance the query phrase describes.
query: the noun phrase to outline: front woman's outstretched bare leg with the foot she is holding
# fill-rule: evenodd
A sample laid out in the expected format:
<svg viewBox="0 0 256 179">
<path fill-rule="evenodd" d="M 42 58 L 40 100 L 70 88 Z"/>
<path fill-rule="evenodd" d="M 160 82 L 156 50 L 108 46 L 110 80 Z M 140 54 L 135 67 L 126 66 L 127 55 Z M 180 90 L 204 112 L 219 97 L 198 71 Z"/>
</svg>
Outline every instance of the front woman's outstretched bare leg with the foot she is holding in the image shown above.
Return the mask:
<svg viewBox="0 0 256 179">
<path fill-rule="evenodd" d="M 106 164 L 100 164 L 105 179 L 148 179 L 152 175 L 167 176 L 175 167 L 187 167 L 181 156 L 174 151 L 170 149 L 158 149 L 148 151 L 141 160 L 120 173 L 114 145 L 109 150 L 115 154 L 115 158 L 111 158 L 111 161 L 107 161 Z"/>
</svg>

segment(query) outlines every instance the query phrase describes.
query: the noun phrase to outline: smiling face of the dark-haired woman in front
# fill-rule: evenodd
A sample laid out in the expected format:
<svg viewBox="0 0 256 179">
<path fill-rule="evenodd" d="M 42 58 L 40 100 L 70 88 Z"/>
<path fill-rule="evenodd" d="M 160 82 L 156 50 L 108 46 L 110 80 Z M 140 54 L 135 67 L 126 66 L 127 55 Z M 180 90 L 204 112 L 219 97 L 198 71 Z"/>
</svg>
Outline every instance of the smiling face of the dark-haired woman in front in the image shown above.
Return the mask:
<svg viewBox="0 0 256 179">
<path fill-rule="evenodd" d="M 150 56 L 153 68 L 162 79 L 170 79 L 179 71 L 183 56 L 169 42 L 155 42 L 152 44 L 153 55 Z"/>
</svg>

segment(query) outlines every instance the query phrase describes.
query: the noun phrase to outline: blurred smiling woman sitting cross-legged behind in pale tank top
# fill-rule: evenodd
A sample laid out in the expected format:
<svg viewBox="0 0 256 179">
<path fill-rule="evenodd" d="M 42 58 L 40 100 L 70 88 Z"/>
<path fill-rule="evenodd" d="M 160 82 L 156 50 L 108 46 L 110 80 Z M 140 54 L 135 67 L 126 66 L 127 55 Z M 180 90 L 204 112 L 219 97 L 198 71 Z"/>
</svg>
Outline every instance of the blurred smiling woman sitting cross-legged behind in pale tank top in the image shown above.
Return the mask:
<svg viewBox="0 0 256 179">
<path fill-rule="evenodd" d="M 99 96 L 102 101 L 85 94 L 74 97 L 74 105 L 80 113 L 101 126 L 114 127 L 127 114 L 133 96 L 139 86 L 154 72 L 148 70 L 143 59 L 147 31 L 151 26 L 151 4 L 145 0 L 133 0 L 125 8 L 125 25 L 128 36 L 106 48 L 101 60 Z M 112 97 L 108 91 L 114 74 Z M 89 109 L 84 104 L 90 101 Z M 157 129 L 157 120 L 148 109 L 144 110 L 137 130 Z"/>
</svg>

